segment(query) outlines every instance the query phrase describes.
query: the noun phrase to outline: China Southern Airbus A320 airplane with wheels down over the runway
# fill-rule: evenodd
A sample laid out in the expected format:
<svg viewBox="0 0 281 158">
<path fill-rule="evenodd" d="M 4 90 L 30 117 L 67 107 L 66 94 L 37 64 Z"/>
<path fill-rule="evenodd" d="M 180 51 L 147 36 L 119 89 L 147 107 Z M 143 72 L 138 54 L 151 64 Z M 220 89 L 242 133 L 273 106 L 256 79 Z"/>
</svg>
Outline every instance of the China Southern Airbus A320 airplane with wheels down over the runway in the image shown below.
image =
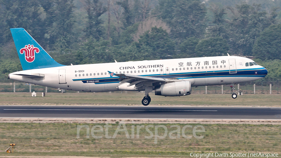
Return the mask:
<svg viewBox="0 0 281 158">
<path fill-rule="evenodd" d="M 141 103 L 149 105 L 149 93 L 187 96 L 191 87 L 235 84 L 261 79 L 268 73 L 253 60 L 238 56 L 195 57 L 164 60 L 111 62 L 85 65 L 57 63 L 23 28 L 11 28 L 23 71 L 9 79 L 72 91 L 145 91 Z"/>
</svg>

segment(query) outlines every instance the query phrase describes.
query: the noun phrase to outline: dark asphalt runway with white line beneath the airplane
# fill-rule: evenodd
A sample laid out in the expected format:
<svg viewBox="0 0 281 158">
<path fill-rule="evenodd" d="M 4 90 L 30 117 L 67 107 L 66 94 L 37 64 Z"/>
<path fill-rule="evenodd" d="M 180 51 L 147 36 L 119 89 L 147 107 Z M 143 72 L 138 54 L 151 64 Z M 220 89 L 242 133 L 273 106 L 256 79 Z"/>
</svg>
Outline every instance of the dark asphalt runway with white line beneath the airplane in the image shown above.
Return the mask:
<svg viewBox="0 0 281 158">
<path fill-rule="evenodd" d="M 0 106 L 0 117 L 281 119 L 281 108 L 164 106 Z"/>
</svg>

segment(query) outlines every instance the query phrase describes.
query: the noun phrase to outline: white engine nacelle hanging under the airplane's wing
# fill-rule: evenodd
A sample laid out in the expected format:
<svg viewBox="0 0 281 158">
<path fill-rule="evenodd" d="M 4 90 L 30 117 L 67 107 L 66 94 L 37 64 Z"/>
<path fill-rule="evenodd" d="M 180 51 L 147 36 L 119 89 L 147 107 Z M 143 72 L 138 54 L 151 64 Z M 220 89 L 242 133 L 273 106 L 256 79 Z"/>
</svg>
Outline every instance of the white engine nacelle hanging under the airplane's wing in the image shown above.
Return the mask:
<svg viewBox="0 0 281 158">
<path fill-rule="evenodd" d="M 178 81 L 155 86 L 155 95 L 158 96 L 185 96 L 191 93 L 190 81 Z"/>
</svg>

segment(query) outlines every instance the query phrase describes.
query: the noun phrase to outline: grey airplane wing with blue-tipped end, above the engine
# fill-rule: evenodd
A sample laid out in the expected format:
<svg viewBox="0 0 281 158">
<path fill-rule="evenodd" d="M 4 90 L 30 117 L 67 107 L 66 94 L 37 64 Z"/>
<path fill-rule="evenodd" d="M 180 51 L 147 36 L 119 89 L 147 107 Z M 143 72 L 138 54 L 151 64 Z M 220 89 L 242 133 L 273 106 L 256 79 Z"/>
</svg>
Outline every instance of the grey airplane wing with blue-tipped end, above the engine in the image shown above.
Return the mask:
<svg viewBox="0 0 281 158">
<path fill-rule="evenodd" d="M 113 72 L 108 71 L 112 76 L 119 77 L 119 85 L 124 83 L 130 83 L 128 86 L 135 85 L 134 89 L 145 89 L 144 86 L 152 87 L 161 85 L 168 82 L 175 82 L 179 81 L 176 78 L 160 78 L 160 77 L 145 77 L 145 76 L 138 76 L 138 75 L 129 75 L 129 74 L 115 74 Z"/>
</svg>

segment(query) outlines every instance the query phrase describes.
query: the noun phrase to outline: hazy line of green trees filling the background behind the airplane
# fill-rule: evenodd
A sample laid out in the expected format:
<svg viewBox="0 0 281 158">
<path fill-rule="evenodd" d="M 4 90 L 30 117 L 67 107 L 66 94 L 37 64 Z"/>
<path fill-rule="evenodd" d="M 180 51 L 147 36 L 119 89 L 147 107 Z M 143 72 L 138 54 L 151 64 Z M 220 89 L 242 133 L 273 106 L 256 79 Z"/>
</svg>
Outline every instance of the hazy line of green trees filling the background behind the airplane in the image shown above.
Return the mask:
<svg viewBox="0 0 281 158">
<path fill-rule="evenodd" d="M 0 0 L 0 79 L 21 70 L 10 28 L 64 65 L 253 56 L 280 65 L 279 1 Z M 272 72 L 269 72 L 272 73 Z M 277 80 L 279 73 L 268 75 Z"/>
</svg>

